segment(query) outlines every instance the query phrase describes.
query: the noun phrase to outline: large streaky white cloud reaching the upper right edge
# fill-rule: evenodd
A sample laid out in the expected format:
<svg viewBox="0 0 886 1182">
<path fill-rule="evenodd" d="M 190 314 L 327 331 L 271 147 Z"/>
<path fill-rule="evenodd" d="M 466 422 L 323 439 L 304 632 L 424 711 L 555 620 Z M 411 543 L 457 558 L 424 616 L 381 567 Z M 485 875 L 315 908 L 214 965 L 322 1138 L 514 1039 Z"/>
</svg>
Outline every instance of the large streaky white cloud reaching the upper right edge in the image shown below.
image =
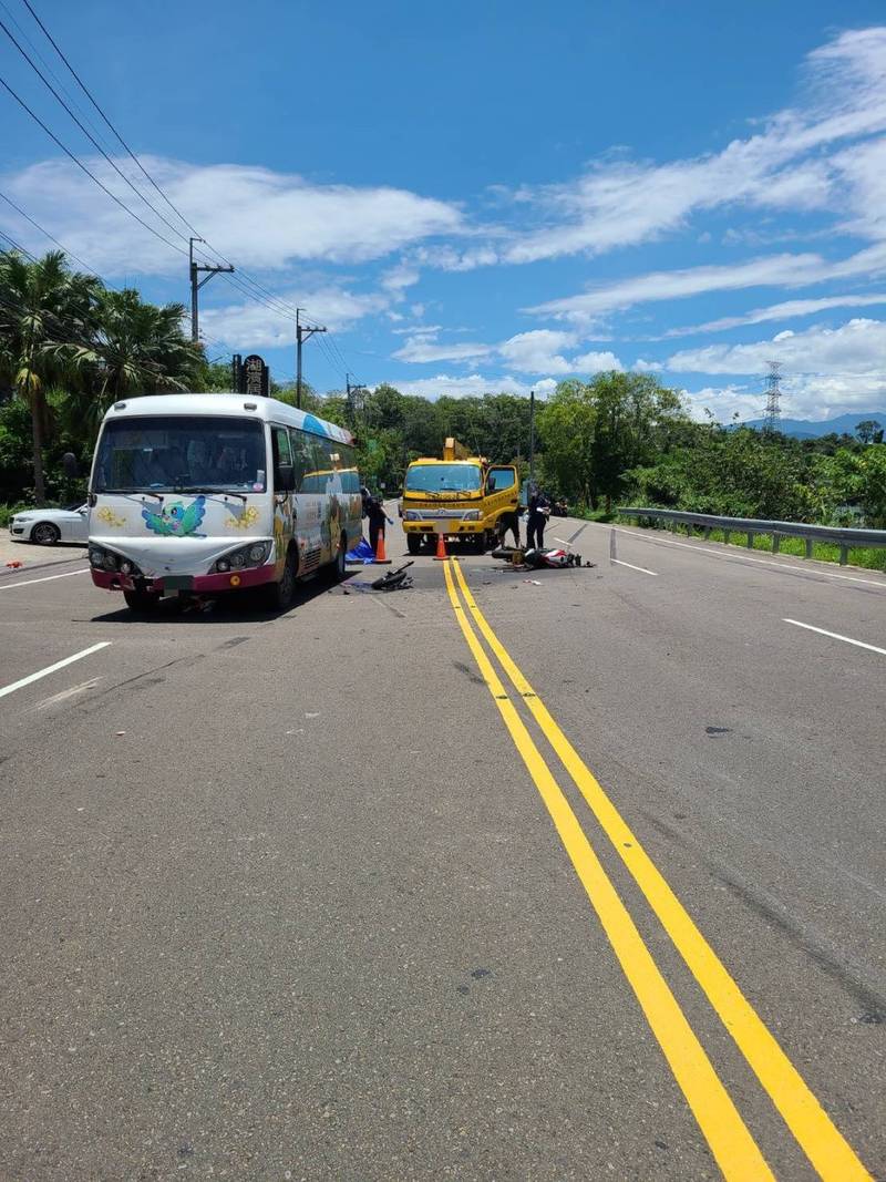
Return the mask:
<svg viewBox="0 0 886 1182">
<path fill-rule="evenodd" d="M 615 156 L 594 162 L 575 181 L 525 187 L 515 200 L 547 214 L 548 225 L 515 235 L 502 258 L 533 262 L 637 245 L 684 228 L 697 212 L 727 206 L 839 208 L 847 184 L 855 186 L 864 210 L 874 208 L 881 217 L 879 189 L 886 182 L 875 161 L 856 160 L 853 175 L 849 160 L 838 164 L 822 152 L 886 129 L 886 30 L 836 37 L 809 56 L 807 73 L 804 108 L 777 112 L 761 134 L 719 152 L 666 163 Z"/>
</svg>

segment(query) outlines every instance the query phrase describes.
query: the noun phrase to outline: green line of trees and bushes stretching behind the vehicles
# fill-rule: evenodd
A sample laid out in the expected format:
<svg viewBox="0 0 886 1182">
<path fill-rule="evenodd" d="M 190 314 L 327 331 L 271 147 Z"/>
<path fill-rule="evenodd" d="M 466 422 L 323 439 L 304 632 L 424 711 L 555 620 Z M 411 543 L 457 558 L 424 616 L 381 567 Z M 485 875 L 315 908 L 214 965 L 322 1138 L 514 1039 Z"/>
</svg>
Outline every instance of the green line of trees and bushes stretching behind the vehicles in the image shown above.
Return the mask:
<svg viewBox="0 0 886 1182">
<path fill-rule="evenodd" d="M 0 253 L 0 506 L 72 500 L 71 450 L 89 465 L 108 407 L 126 395 L 229 390 L 183 332 L 181 304 L 157 306 L 72 271 L 61 253 L 32 261 Z M 295 402 L 292 385 L 274 397 Z M 431 402 L 383 383 L 371 391 L 307 387 L 307 410 L 350 428 L 363 479 L 395 494 L 409 462 L 438 455 L 452 435 L 528 475 L 529 400 L 489 392 Z M 561 382 L 538 404 L 535 475 L 575 511 L 619 504 L 886 528 L 882 428 L 795 440 L 777 431 L 693 421 L 679 391 L 650 374 Z"/>
</svg>

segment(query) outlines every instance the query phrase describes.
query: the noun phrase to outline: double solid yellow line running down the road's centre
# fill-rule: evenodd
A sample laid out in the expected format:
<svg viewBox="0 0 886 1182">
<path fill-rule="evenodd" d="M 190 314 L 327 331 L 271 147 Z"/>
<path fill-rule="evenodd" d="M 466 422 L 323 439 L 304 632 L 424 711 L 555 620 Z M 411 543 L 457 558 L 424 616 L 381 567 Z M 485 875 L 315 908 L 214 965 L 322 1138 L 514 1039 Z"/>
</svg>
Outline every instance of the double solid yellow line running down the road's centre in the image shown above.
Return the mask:
<svg viewBox="0 0 886 1182">
<path fill-rule="evenodd" d="M 444 573 L 449 600 L 480 674 L 724 1177 L 730 1182 L 764 1182 L 774 1175 L 509 697 L 481 637 L 820 1177 L 826 1182 L 872 1182 L 852 1147 L 742 994 L 594 774 L 489 626 L 458 565 L 448 561 Z"/>
</svg>

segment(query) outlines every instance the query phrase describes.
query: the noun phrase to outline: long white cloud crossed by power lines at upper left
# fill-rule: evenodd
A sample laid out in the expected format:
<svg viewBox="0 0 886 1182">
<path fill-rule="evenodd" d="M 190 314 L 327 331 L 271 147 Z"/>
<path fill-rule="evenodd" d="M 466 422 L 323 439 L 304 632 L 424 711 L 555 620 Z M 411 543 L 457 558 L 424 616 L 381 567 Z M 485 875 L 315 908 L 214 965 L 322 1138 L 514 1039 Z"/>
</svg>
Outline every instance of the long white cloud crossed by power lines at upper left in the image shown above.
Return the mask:
<svg viewBox="0 0 886 1182">
<path fill-rule="evenodd" d="M 321 186 L 243 164 L 143 160 L 172 203 L 210 242 L 246 267 L 279 271 L 299 260 L 365 262 L 430 236 L 457 234 L 463 227 L 463 215 L 452 203 L 405 189 Z M 125 171 L 126 162 L 118 164 Z M 187 241 L 139 204 L 109 164 L 89 160 L 87 165 L 187 252 Z M 106 274 L 170 274 L 182 268 L 180 254 L 142 229 L 67 161 L 45 161 L 7 174 L 4 188 L 70 249 Z M 176 223 L 171 210 L 156 201 Z M 26 222 L 18 223 L 14 215 L 7 220 L 6 214 L 4 221 L 17 226 L 24 245 L 44 249 L 45 241 L 38 241 Z M 180 228 L 187 238 L 187 227 Z M 392 274 L 399 284 L 409 273 L 400 267 Z"/>
</svg>

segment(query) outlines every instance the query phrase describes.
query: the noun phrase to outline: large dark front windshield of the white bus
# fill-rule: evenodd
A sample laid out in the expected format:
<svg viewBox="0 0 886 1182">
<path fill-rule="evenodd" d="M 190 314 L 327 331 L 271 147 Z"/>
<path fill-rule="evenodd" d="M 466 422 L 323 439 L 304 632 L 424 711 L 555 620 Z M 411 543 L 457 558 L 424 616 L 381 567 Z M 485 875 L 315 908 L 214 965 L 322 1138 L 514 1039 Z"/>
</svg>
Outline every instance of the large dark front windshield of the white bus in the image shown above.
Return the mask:
<svg viewBox="0 0 886 1182">
<path fill-rule="evenodd" d="M 266 487 L 262 423 L 222 415 L 113 418 L 102 433 L 92 480 L 95 493 Z"/>
</svg>

